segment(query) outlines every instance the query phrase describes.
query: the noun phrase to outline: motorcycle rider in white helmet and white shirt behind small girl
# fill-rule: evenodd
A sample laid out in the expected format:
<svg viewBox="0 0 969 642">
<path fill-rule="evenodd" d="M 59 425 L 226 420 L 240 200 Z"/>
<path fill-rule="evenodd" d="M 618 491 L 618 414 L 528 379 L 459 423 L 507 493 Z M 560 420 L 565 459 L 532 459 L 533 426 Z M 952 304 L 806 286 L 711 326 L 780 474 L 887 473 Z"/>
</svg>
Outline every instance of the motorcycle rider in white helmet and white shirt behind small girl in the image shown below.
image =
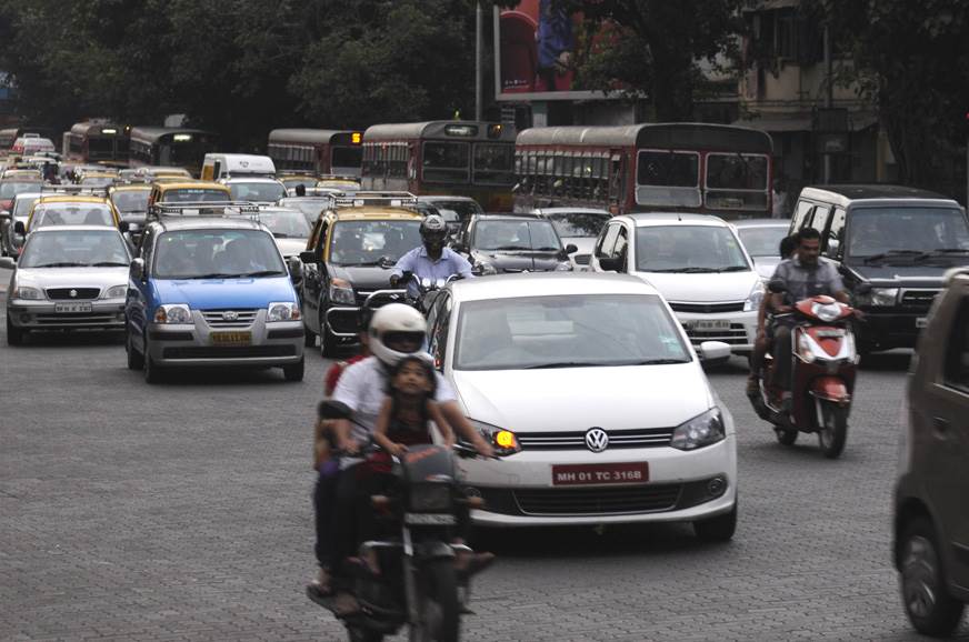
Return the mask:
<svg viewBox="0 0 969 642">
<path fill-rule="evenodd" d="M 340 479 L 337 484 L 337 510 L 334 519 L 334 545 L 331 568 L 334 571 L 334 583 L 338 591 L 337 609 L 341 612 L 356 610 L 356 600 L 347 592 L 346 560 L 352 555 L 358 543 L 359 520 L 357 510 L 362 508 L 364 498 L 360 496 L 362 484 L 357 478 L 366 469 L 360 464 L 363 459 L 354 457 L 360 444 L 368 442 L 377 425 L 377 418 L 387 395 L 388 375 L 390 370 L 407 355 L 421 350 L 427 332 L 427 321 L 423 315 L 403 303 L 387 304 L 373 313 L 368 330 L 368 345 L 372 357 L 368 357 L 348 367 L 337 389 L 333 401 L 344 403 L 353 411 L 354 422 L 339 420 L 334 427 L 337 447 L 344 453 L 340 460 Z M 483 457 L 495 454 L 491 445 L 474 430 L 458 405 L 450 384 L 436 373 L 437 391 L 434 401 L 441 414 L 454 431 L 471 442 Z M 358 425 L 359 424 L 359 425 Z"/>
</svg>

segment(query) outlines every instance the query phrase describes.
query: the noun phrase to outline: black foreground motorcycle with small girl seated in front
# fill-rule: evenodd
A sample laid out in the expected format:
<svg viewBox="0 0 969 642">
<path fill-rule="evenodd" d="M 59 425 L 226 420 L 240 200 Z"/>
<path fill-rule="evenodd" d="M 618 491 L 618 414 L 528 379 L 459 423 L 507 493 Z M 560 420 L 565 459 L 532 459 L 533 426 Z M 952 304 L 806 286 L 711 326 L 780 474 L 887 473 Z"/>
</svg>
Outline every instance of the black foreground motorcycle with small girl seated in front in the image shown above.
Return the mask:
<svg viewBox="0 0 969 642">
<path fill-rule="evenodd" d="M 334 401 L 323 401 L 319 410 L 322 419 L 351 419 L 352 414 Z M 519 450 L 513 439 L 498 441 L 506 445 L 495 444 L 496 458 Z M 362 452 L 376 450 L 371 445 Z M 453 452 L 462 458 L 479 457 L 463 443 L 454 444 Z M 473 554 L 469 546 L 452 543 L 458 506 L 463 504 L 470 510 L 484 502 L 463 491 L 453 455 L 444 447 L 410 447 L 404 455 L 391 461 L 393 490 L 370 499 L 381 531 L 393 534 L 360 545 L 360 559 L 376 554 L 380 569 L 379 573 L 366 564 L 354 569 L 353 593 L 360 610 L 342 615 L 331 598 L 319 596 L 310 589 L 307 595 L 343 620 L 350 642 L 380 642 L 404 625 L 411 642 L 456 642 L 461 614 L 470 612 L 471 594 L 470 578 L 459 575 L 456 556 Z"/>
</svg>

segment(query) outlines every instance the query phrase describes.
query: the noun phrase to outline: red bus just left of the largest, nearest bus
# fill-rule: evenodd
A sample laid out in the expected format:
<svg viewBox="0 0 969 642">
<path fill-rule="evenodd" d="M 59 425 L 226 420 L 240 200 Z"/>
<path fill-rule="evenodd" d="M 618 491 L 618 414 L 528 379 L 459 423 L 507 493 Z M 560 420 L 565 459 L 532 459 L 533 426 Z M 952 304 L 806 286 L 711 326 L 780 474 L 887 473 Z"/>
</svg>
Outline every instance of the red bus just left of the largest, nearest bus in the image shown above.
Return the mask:
<svg viewBox="0 0 969 642">
<path fill-rule="evenodd" d="M 470 197 L 510 211 L 515 130 L 495 122 L 441 120 L 374 124 L 363 132 L 364 190 Z"/>
</svg>

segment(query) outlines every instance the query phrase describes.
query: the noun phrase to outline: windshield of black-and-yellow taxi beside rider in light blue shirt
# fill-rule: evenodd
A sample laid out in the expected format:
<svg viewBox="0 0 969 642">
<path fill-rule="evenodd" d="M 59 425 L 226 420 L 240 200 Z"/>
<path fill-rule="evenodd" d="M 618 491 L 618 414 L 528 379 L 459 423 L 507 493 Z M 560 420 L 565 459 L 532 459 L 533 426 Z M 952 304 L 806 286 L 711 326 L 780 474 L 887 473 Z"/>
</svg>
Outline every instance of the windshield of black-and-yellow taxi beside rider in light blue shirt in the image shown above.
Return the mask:
<svg viewBox="0 0 969 642">
<path fill-rule="evenodd" d="M 420 221 L 338 221 L 331 237 L 329 262 L 338 265 L 397 261 L 421 244 Z"/>
</svg>

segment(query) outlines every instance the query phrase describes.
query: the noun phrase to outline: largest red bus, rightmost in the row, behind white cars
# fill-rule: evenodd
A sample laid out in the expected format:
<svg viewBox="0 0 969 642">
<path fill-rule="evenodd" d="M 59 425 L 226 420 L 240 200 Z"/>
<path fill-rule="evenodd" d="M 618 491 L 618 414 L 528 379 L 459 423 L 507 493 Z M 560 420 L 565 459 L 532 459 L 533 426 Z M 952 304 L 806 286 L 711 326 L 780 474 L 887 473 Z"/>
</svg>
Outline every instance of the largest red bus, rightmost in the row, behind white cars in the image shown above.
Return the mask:
<svg viewBox="0 0 969 642">
<path fill-rule="evenodd" d="M 515 209 L 770 217 L 771 152 L 766 132 L 723 124 L 527 129 L 515 147 Z"/>
</svg>

